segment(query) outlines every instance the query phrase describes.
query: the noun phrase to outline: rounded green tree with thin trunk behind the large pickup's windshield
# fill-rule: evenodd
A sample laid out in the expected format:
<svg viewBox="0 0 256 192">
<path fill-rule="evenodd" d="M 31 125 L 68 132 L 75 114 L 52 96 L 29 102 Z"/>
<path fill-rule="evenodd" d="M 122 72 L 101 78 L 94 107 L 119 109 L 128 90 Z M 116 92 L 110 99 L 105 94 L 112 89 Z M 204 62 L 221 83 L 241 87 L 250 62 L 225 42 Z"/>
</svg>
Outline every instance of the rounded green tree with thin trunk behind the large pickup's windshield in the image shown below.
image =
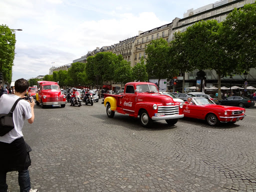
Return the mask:
<svg viewBox="0 0 256 192">
<path fill-rule="evenodd" d="M 161 78 L 167 78 L 170 74 L 170 56 L 168 43 L 163 38 L 152 40 L 146 47 L 146 70 L 149 77 L 158 79 L 158 88 Z"/>
</svg>

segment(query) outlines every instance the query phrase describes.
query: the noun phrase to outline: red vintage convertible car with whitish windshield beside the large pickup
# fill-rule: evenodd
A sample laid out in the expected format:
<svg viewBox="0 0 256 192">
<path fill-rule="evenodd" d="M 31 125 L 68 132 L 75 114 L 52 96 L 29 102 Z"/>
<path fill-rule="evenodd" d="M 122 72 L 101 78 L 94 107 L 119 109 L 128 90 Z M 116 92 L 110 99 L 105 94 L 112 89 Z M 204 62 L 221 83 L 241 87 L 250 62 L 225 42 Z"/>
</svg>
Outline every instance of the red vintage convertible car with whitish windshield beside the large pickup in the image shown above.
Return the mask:
<svg viewBox="0 0 256 192">
<path fill-rule="evenodd" d="M 218 105 L 206 97 L 192 97 L 192 104 L 183 104 L 179 108 L 185 117 L 204 119 L 209 125 L 219 122 L 235 123 L 245 116 L 245 109 L 236 106 Z"/>
</svg>

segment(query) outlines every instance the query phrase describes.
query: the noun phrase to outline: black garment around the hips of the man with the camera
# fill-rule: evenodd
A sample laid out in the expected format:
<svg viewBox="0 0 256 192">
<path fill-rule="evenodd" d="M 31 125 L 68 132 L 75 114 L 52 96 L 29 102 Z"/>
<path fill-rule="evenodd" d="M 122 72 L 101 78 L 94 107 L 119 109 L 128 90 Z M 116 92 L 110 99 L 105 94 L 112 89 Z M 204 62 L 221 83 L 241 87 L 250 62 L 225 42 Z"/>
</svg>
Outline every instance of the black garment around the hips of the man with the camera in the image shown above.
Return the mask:
<svg viewBox="0 0 256 192">
<path fill-rule="evenodd" d="M 23 137 L 11 143 L 0 142 L 0 171 L 26 170 L 31 165 L 31 150 Z"/>
</svg>

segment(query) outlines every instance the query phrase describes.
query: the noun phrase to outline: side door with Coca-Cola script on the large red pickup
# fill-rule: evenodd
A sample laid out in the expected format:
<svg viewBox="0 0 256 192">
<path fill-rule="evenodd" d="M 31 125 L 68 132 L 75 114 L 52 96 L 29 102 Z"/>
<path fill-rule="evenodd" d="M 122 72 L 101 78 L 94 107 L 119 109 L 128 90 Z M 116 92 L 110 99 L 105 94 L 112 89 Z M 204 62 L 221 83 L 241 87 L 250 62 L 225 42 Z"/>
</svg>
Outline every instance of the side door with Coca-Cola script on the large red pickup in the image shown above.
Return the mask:
<svg viewBox="0 0 256 192">
<path fill-rule="evenodd" d="M 122 94 L 122 99 L 120 100 L 122 102 L 122 109 L 127 113 L 134 113 L 136 98 L 137 95 L 134 92 L 134 86 L 127 85 L 125 92 Z"/>
</svg>

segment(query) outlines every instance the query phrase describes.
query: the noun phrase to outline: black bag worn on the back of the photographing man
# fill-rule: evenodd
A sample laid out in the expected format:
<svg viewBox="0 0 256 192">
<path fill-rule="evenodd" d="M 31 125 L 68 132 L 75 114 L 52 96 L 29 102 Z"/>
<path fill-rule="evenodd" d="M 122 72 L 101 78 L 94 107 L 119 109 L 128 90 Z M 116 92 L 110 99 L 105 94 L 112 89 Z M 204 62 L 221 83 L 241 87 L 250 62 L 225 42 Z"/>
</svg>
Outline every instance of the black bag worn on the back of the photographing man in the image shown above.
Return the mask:
<svg viewBox="0 0 256 192">
<path fill-rule="evenodd" d="M 3 113 L 0 114 L 0 136 L 3 136 L 4 134 L 6 134 L 7 132 L 9 132 L 11 129 L 14 128 L 12 113 L 13 113 L 13 110 L 15 109 L 16 104 L 19 100 L 21 100 L 21 98 L 18 98 L 14 102 L 14 104 L 11 107 L 8 114 L 3 114 Z"/>
</svg>

